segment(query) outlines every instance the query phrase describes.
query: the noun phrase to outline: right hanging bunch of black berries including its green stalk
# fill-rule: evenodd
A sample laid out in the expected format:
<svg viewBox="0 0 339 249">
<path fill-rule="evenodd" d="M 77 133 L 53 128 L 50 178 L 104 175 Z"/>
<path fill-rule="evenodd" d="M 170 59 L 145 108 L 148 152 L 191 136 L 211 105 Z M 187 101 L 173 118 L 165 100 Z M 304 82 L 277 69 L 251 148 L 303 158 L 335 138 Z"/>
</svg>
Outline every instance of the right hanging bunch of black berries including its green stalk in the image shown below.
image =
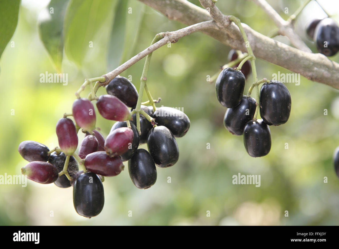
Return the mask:
<svg viewBox="0 0 339 249">
<path fill-rule="evenodd" d="M 251 157 L 263 157 L 271 150 L 269 126 L 287 122 L 291 113 L 291 95 L 287 87 L 279 81 L 258 80 L 255 56 L 240 20 L 229 19 L 240 29 L 247 53 L 231 50 L 228 64 L 222 67 L 215 83 L 217 100 L 226 107 L 224 125 L 233 135 L 243 135 L 244 146 Z M 234 66 L 234 67 L 231 67 Z M 244 95 L 245 80 L 252 69 L 253 84 Z M 212 77 L 214 78 L 214 77 Z M 263 84 L 260 89 L 259 85 Z M 251 97 L 256 89 L 256 99 Z M 260 111 L 261 119 L 257 119 Z"/>
</svg>

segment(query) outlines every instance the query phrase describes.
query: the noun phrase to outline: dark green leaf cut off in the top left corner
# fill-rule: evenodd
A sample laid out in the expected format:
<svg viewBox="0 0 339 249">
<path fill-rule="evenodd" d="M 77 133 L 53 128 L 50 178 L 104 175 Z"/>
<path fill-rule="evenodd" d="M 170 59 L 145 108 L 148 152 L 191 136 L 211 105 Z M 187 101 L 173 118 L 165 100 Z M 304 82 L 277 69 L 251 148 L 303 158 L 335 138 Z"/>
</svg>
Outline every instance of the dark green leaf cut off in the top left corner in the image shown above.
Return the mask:
<svg viewBox="0 0 339 249">
<path fill-rule="evenodd" d="M 0 0 L 0 58 L 18 24 L 20 0 Z"/>
</svg>

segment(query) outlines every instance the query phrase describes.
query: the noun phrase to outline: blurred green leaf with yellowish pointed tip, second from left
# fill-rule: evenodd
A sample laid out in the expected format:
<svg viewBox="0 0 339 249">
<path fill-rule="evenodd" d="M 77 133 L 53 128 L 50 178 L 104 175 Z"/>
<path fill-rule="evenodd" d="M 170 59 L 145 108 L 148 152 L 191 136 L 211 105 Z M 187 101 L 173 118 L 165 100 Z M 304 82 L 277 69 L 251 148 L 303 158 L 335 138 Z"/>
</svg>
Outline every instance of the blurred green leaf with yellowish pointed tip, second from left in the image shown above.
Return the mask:
<svg viewBox="0 0 339 249">
<path fill-rule="evenodd" d="M 46 7 L 43 19 L 39 21 L 39 35 L 51 56 L 57 71 L 61 72 L 63 54 L 63 20 L 68 0 L 51 0 Z"/>
</svg>

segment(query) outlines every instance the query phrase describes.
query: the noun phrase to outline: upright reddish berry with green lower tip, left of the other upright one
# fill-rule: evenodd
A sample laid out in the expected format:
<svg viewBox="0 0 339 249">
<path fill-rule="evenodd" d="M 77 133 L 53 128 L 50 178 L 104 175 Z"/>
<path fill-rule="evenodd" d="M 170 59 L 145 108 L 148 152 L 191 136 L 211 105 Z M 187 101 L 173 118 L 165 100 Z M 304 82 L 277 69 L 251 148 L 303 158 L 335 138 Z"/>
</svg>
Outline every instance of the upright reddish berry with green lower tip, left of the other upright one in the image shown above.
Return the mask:
<svg viewBox="0 0 339 249">
<path fill-rule="evenodd" d="M 73 121 L 68 118 L 59 119 L 56 133 L 62 152 L 72 155 L 78 147 L 78 135 Z"/>
</svg>

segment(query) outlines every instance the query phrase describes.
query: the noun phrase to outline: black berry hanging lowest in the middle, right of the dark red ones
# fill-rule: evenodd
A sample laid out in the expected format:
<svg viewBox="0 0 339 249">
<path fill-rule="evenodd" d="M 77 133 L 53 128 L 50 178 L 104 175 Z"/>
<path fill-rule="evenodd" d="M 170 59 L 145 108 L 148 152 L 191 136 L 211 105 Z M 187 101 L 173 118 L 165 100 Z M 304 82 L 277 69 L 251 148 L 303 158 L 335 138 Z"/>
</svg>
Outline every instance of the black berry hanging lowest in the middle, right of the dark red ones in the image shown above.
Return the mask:
<svg viewBox="0 0 339 249">
<path fill-rule="evenodd" d="M 128 172 L 134 185 L 140 189 L 150 188 L 157 180 L 155 163 L 145 149 L 138 149 L 128 160 Z"/>
</svg>

